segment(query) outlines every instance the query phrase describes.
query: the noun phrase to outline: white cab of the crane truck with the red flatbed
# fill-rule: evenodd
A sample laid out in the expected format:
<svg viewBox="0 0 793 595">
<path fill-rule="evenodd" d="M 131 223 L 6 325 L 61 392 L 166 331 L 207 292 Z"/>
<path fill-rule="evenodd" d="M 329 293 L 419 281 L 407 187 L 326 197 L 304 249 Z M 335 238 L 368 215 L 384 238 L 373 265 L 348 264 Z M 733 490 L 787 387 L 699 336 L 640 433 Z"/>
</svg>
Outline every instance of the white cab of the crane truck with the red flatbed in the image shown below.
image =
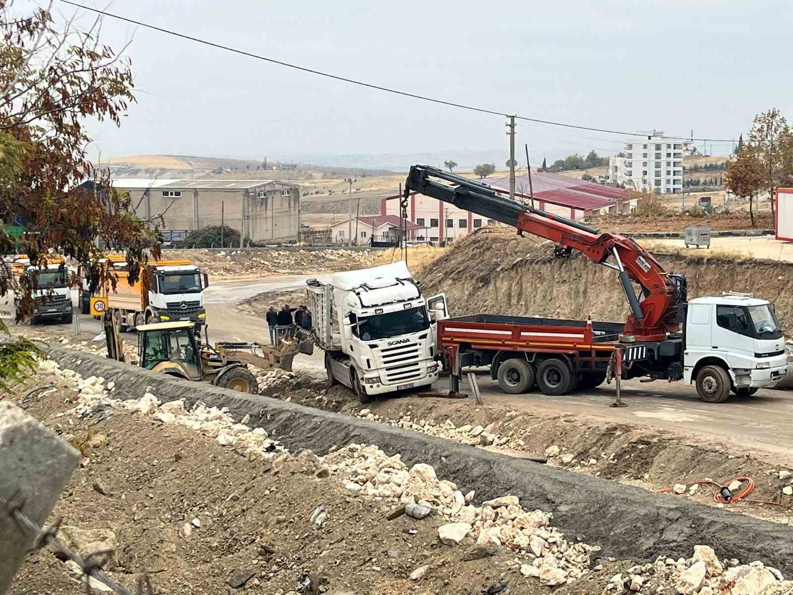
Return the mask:
<svg viewBox="0 0 793 595">
<path fill-rule="evenodd" d="M 684 336 L 683 379 L 695 382 L 705 401 L 721 402 L 730 391 L 752 394 L 787 373 L 774 306 L 752 294 L 688 301 Z"/>
</svg>

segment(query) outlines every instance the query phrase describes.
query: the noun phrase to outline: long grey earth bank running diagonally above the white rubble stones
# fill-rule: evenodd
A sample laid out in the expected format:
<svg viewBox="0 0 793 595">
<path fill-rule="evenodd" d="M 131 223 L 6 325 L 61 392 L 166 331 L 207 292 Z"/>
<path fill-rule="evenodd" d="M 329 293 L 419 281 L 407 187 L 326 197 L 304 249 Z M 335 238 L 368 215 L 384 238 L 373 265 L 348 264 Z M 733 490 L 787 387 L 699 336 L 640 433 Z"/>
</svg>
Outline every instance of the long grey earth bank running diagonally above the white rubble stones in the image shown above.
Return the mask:
<svg viewBox="0 0 793 595">
<path fill-rule="evenodd" d="M 54 347 L 50 356 L 83 376 L 113 380 L 119 398 L 140 397 L 150 389 L 163 401 L 227 407 L 235 420 L 249 415 L 251 427 L 265 428 L 292 451 L 308 448 L 322 455 L 334 445 L 377 444 L 389 455 L 400 453 L 408 465 L 429 463 L 439 477 L 475 489 L 477 501 L 512 493 L 524 509 L 552 511 L 554 524 L 569 539 L 600 544 L 604 555 L 638 560 L 661 554 L 688 557 L 695 544 L 707 543 L 722 558 L 763 559 L 785 574 L 793 573 L 793 528 L 786 525 L 387 424 L 172 380 L 80 351 Z"/>
</svg>

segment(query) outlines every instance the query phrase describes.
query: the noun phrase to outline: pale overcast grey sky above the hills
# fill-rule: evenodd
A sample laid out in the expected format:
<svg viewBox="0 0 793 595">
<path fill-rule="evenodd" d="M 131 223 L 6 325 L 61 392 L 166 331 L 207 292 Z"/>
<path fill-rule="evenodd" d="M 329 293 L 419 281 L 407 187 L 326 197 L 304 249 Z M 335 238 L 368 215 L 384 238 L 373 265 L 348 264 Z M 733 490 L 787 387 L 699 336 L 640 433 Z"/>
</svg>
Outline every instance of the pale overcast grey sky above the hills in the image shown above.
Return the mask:
<svg viewBox="0 0 793 595">
<path fill-rule="evenodd" d="M 672 136 L 693 129 L 719 139 L 737 139 L 772 106 L 793 120 L 787 0 L 83 1 L 217 44 L 501 113 Z M 25 2 L 37 3 L 17 6 Z M 55 5 L 67 17 L 79 10 Z M 93 19 L 79 12 L 83 23 Z M 102 40 L 113 48 L 132 40 L 125 54 L 137 103 L 119 129 L 90 125 L 92 157 L 463 150 L 508 157 L 502 116 L 326 79 L 109 17 Z M 519 148 L 528 144 L 549 161 L 592 148 L 615 154 L 624 139 L 526 121 L 516 131 Z M 730 149 L 714 144 L 714 154 Z"/>
</svg>

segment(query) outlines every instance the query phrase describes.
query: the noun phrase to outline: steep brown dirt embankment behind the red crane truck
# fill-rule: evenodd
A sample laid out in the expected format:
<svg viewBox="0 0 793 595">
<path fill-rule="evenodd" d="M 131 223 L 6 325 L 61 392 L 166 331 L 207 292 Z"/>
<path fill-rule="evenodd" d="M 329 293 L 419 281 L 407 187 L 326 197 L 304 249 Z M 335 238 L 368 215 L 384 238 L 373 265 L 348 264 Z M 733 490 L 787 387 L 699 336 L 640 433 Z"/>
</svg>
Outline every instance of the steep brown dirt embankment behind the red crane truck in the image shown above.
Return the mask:
<svg viewBox="0 0 793 595">
<path fill-rule="evenodd" d="M 454 316 L 500 313 L 623 321 L 628 309 L 614 271 L 583 255 L 551 255 L 554 244 L 485 229 L 423 267 L 423 292 L 445 292 Z M 793 335 L 793 263 L 656 254 L 666 271 L 684 273 L 688 297 L 752 292 L 776 304 Z"/>
</svg>

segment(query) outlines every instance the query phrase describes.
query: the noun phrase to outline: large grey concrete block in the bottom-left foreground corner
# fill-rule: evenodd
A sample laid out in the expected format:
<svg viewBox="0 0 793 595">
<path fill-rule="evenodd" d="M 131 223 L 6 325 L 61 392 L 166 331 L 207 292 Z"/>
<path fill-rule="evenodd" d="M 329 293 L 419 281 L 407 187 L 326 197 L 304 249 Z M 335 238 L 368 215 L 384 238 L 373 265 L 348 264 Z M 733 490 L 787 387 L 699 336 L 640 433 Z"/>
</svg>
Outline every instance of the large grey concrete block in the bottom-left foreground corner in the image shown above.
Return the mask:
<svg viewBox="0 0 793 595">
<path fill-rule="evenodd" d="M 75 448 L 16 405 L 0 401 L 0 500 L 14 498 L 41 527 L 78 463 Z M 21 493 L 15 497 L 17 490 Z M 0 595 L 10 588 L 32 545 L 33 538 L 0 506 Z"/>
</svg>

